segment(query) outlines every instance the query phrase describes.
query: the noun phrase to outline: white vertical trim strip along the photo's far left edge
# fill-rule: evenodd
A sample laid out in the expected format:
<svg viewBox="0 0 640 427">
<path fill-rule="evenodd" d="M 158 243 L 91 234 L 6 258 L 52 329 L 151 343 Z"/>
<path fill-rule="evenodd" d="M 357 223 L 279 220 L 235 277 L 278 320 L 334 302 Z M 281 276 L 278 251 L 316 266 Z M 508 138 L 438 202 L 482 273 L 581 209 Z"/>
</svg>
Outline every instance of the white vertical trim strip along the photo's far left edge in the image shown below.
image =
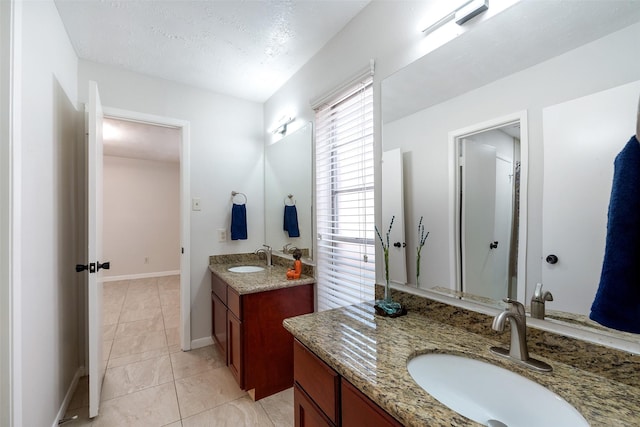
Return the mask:
<svg viewBox="0 0 640 427">
<path fill-rule="evenodd" d="M 0 2 L 0 424 L 22 425 L 22 2 Z"/>
</svg>

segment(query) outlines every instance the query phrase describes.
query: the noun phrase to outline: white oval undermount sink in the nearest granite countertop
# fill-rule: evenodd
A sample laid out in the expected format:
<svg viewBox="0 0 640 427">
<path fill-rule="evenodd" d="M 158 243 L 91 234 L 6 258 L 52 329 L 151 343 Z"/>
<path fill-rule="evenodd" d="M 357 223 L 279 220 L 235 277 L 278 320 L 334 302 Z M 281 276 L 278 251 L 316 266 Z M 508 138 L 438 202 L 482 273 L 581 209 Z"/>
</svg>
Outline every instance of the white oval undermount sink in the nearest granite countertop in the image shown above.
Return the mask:
<svg viewBox="0 0 640 427">
<path fill-rule="evenodd" d="M 429 353 L 409 360 L 407 369 L 440 403 L 486 426 L 589 426 L 554 392 L 490 363 Z"/>
</svg>

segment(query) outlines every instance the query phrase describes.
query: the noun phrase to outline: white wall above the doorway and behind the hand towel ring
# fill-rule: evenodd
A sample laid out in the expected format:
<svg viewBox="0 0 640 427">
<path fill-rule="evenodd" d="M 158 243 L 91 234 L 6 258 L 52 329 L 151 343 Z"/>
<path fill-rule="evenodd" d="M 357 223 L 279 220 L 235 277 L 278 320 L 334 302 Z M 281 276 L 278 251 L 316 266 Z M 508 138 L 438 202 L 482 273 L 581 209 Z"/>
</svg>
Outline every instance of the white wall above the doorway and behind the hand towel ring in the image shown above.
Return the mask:
<svg viewBox="0 0 640 427">
<path fill-rule="evenodd" d="M 79 102 L 87 102 L 89 80 L 98 83 L 105 107 L 190 123 L 191 337 L 211 336 L 209 256 L 253 252 L 264 239 L 262 105 L 167 80 L 80 60 Z M 247 195 L 248 239 L 218 242 L 229 230 L 231 191 Z M 229 234 L 229 233 L 228 233 Z"/>
</svg>

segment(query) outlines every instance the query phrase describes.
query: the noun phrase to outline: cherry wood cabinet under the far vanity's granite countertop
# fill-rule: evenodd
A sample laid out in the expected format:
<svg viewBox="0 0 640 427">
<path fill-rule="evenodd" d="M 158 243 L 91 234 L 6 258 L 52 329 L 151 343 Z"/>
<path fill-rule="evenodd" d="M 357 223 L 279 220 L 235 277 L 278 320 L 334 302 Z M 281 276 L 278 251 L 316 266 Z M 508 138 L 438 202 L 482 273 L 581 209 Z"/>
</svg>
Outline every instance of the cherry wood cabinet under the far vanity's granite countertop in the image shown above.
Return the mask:
<svg viewBox="0 0 640 427">
<path fill-rule="evenodd" d="M 213 338 L 224 351 L 227 366 L 240 387 L 255 400 L 293 385 L 293 336 L 282 321 L 313 312 L 313 286 L 239 295 L 211 273 Z M 223 319 L 224 327 L 220 326 Z"/>
</svg>

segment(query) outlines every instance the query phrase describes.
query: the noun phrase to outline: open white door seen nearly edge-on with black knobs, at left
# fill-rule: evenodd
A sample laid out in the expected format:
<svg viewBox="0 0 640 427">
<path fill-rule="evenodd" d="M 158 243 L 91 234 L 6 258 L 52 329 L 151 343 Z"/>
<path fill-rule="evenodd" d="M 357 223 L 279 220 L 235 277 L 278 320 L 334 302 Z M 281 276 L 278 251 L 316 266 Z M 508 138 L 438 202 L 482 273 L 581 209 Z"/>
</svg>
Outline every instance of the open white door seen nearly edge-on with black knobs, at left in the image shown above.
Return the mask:
<svg viewBox="0 0 640 427">
<path fill-rule="evenodd" d="M 89 280 L 87 321 L 89 334 L 89 417 L 98 415 L 105 364 L 102 360 L 102 105 L 96 82 L 89 82 L 87 108 L 87 237 Z"/>
</svg>

